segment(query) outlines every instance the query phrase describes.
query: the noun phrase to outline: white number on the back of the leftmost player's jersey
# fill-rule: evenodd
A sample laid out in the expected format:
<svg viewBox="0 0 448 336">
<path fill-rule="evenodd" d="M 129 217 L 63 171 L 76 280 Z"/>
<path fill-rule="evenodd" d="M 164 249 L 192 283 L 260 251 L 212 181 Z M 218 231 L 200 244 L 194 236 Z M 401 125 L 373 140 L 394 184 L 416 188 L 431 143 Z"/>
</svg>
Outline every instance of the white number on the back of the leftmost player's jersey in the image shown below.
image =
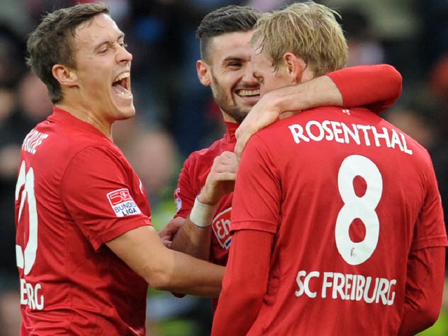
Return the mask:
<svg viewBox="0 0 448 336">
<path fill-rule="evenodd" d="M 20 166 L 19 177 L 17 185 L 15 186 L 15 200 L 19 199 L 20 188 L 25 185 L 25 188 L 20 195 L 20 208 L 18 214 L 18 221 L 22 216 L 25 201 L 28 204 L 29 212 L 29 237 L 25 251 L 22 251 L 22 246 L 15 245 L 15 258 L 17 266 L 24 269 L 25 275 L 29 274 L 31 268 L 36 261 L 37 251 L 37 210 L 36 210 L 36 196 L 34 195 L 34 171 L 32 168 L 26 172 L 25 161 Z"/>
</svg>

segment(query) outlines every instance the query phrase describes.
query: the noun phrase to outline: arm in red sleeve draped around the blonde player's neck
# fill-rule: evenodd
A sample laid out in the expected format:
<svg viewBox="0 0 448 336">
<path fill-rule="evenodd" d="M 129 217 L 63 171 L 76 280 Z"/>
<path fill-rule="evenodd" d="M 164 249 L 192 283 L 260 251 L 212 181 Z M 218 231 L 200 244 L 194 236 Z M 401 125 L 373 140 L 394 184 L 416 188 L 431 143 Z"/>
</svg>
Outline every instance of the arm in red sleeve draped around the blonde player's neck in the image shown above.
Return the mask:
<svg viewBox="0 0 448 336">
<path fill-rule="evenodd" d="M 381 113 L 400 97 L 402 77 L 391 65 L 351 66 L 307 82 L 282 87 L 260 98 L 238 127 L 235 153 L 241 156 L 248 139 L 274 123 L 282 113 L 316 106 L 367 106 Z"/>
</svg>

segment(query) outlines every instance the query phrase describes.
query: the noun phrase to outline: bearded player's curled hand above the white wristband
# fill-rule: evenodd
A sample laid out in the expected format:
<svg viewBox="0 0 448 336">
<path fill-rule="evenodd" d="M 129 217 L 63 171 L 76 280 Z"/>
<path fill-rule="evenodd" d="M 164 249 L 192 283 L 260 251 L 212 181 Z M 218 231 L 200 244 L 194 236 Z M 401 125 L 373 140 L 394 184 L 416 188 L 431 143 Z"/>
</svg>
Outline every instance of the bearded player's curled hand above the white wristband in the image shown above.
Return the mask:
<svg viewBox="0 0 448 336">
<path fill-rule="evenodd" d="M 204 188 L 197 196 L 201 203 L 215 205 L 223 195 L 232 193 L 237 179 L 237 155 L 225 151 L 217 156 L 211 166 Z"/>
</svg>

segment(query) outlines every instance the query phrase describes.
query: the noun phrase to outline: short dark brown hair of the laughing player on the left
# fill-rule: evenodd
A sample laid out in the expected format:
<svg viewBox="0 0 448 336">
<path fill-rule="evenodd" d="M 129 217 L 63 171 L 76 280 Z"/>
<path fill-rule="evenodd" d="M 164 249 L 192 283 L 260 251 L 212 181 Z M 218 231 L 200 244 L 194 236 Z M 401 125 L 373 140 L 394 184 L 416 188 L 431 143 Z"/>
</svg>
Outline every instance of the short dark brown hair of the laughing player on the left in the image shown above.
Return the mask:
<svg viewBox="0 0 448 336">
<path fill-rule="evenodd" d="M 53 65 L 76 66 L 73 50 L 75 30 L 101 13 L 109 15 L 109 7 L 104 3 L 82 3 L 61 8 L 48 13 L 29 35 L 27 65 L 47 85 L 53 104 L 62 100 L 59 82 L 52 76 Z"/>
</svg>

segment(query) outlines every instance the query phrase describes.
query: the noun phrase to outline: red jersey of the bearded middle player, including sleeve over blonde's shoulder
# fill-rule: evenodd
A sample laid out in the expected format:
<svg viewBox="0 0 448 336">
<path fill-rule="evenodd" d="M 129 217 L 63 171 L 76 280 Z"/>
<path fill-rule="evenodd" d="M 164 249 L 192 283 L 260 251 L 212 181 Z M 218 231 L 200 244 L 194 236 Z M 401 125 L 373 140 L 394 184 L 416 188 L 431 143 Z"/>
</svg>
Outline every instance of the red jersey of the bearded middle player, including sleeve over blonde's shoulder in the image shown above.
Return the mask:
<svg viewBox="0 0 448 336">
<path fill-rule="evenodd" d="M 359 106 L 370 104 L 369 107 L 376 113 L 381 113 L 391 106 L 401 94 L 401 76 L 393 66 L 379 64 L 374 66 L 352 66 L 327 74 L 335 82 L 344 99 L 344 106 Z M 383 80 L 382 78 L 395 80 Z M 371 80 L 375 78 L 375 80 Z M 370 81 L 367 81 L 370 80 Z M 378 83 L 391 83 L 377 85 Z M 356 87 L 370 85 L 370 90 L 363 91 L 363 95 L 356 94 Z M 372 86 L 373 85 L 373 86 Z M 389 94 L 384 102 L 377 102 L 377 95 L 381 97 Z M 374 104 L 371 104 L 375 102 Z M 174 193 L 177 213 L 175 217 L 188 218 L 193 208 L 196 196 L 202 190 L 207 175 L 210 172 L 214 159 L 224 151 L 235 151 L 235 132 L 237 123 L 226 123 L 227 133 L 223 139 L 215 141 L 209 148 L 190 154 L 183 164 L 179 181 Z M 230 236 L 230 216 L 232 214 L 232 193 L 225 195 L 218 203 L 215 217 L 212 222 L 214 234 L 211 237 L 210 260 L 218 265 L 226 265 L 232 237 Z M 216 307 L 217 300 L 213 300 Z"/>
</svg>

